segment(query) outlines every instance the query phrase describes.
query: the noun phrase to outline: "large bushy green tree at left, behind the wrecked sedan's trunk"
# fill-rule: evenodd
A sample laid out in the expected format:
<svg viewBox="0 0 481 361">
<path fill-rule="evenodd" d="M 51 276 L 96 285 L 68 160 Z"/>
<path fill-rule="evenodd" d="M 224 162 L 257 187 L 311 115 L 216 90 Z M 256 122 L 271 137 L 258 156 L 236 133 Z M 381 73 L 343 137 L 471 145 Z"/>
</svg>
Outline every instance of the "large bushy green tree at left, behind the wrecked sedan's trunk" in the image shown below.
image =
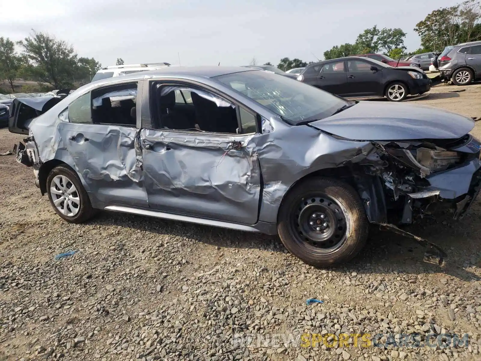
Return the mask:
<svg viewBox="0 0 481 361">
<path fill-rule="evenodd" d="M 73 85 L 78 71 L 77 54 L 72 45 L 47 33 L 36 32 L 18 42 L 30 62 L 29 72 L 55 89 Z"/>
</svg>

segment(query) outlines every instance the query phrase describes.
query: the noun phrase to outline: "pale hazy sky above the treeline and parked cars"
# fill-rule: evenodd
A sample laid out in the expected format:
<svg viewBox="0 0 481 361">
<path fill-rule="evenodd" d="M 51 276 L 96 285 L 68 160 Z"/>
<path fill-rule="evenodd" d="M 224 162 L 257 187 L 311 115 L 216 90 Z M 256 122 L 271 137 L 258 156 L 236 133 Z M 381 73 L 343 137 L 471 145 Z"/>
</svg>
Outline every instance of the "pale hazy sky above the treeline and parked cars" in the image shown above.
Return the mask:
<svg viewBox="0 0 481 361">
<path fill-rule="evenodd" d="M 24 39 L 31 29 L 73 44 L 102 65 L 278 64 L 283 57 L 315 61 L 333 45 L 354 42 L 367 27 L 400 27 L 408 50 L 419 47 L 415 25 L 448 0 L 15 0 L 0 35 Z M 13 16 L 15 14 L 15 16 Z M 21 14 L 21 15 L 20 15 Z M 8 19 L 8 20 L 7 20 Z M 440 25 L 442 26 L 442 25 Z"/>
</svg>

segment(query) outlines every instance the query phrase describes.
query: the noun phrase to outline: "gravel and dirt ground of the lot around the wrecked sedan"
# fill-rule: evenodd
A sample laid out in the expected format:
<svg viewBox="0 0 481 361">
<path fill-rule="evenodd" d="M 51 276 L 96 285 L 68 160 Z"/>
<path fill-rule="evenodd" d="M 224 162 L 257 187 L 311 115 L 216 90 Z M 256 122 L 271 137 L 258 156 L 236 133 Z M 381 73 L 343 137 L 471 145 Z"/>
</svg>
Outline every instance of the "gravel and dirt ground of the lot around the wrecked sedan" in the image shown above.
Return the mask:
<svg viewBox="0 0 481 361">
<path fill-rule="evenodd" d="M 431 93 L 416 102 L 481 116 L 481 85 Z M 0 129 L 0 153 L 22 138 Z M 0 360 L 481 360 L 481 199 L 408 228 L 447 250 L 444 269 L 373 227 L 359 257 L 317 270 L 278 237 L 108 212 L 67 224 L 13 156 L 0 180 Z M 413 333 L 435 347 L 389 336 Z M 446 333 L 468 345 L 426 337 Z"/>
</svg>

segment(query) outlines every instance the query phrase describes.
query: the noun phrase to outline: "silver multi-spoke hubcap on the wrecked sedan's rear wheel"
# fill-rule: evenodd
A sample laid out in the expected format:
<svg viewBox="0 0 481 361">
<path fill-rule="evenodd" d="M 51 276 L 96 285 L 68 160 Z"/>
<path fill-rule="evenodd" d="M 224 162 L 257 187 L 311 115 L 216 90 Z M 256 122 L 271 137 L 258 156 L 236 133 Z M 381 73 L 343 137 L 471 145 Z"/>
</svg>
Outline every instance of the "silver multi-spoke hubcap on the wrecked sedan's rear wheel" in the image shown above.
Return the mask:
<svg viewBox="0 0 481 361">
<path fill-rule="evenodd" d="M 53 204 L 63 215 L 75 216 L 80 209 L 80 197 L 77 189 L 67 177 L 55 176 L 50 183 Z"/>
</svg>

